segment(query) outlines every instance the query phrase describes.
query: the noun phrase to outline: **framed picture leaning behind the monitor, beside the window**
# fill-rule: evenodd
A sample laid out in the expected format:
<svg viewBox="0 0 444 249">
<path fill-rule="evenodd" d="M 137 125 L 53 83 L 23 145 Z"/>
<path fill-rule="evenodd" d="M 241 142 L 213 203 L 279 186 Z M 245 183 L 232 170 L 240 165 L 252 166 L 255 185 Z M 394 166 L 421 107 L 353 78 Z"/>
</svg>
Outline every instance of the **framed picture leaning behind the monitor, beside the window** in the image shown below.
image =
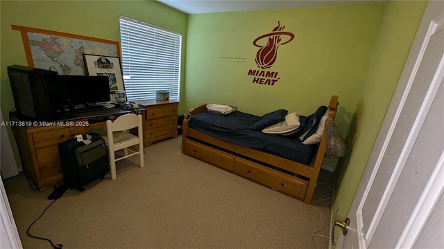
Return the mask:
<svg viewBox="0 0 444 249">
<path fill-rule="evenodd" d="M 108 76 L 110 91 L 125 90 L 120 57 L 83 54 L 87 75 Z"/>
</svg>

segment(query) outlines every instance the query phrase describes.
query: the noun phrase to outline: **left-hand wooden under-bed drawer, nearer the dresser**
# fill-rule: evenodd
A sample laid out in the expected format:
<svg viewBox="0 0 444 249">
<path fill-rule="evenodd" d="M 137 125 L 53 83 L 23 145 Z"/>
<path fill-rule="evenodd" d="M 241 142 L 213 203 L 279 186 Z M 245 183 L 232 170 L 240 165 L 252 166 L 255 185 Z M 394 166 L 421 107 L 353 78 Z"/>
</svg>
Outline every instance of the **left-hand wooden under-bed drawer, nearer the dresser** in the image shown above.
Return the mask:
<svg viewBox="0 0 444 249">
<path fill-rule="evenodd" d="M 233 171 L 234 157 L 232 155 L 217 151 L 216 149 L 212 149 L 205 145 L 196 145 L 195 143 L 188 141 L 185 141 L 185 143 L 185 154 L 204 160 L 207 163 L 223 167 L 231 172 Z"/>
</svg>

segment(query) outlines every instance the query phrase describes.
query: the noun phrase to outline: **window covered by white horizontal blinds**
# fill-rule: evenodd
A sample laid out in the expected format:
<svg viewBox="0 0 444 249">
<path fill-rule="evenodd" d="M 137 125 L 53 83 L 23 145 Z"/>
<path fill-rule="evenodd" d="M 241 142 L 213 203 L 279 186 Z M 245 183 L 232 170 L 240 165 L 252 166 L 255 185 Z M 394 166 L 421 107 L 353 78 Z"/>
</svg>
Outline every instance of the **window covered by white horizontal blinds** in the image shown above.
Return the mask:
<svg viewBox="0 0 444 249">
<path fill-rule="evenodd" d="M 182 36 L 141 21 L 120 17 L 123 82 L 128 100 L 155 98 L 155 91 L 180 96 Z"/>
</svg>

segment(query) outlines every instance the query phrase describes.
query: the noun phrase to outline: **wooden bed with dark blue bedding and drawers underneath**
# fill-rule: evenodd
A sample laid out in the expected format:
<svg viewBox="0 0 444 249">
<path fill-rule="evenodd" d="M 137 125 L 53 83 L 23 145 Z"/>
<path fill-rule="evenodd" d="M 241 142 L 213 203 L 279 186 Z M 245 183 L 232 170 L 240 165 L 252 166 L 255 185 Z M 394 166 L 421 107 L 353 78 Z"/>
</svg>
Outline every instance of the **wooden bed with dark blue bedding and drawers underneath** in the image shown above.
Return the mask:
<svg viewBox="0 0 444 249">
<path fill-rule="evenodd" d="M 261 117 L 241 111 L 217 115 L 207 111 L 207 104 L 200 104 L 184 115 L 182 153 L 309 204 L 327 145 L 318 123 L 323 123 L 321 117 L 334 121 L 338 104 L 338 96 L 333 95 L 327 107 L 321 106 L 310 116 L 301 117 L 300 128 L 305 129 L 305 138 L 318 133 L 319 142 L 311 145 L 302 143 L 301 130 L 296 132 L 297 136 L 282 136 L 264 133 L 263 127 L 256 129 L 256 124 L 263 124 L 261 120 L 267 120 L 270 113 Z M 271 114 L 278 112 L 282 110 Z M 311 127 L 307 128 L 309 124 Z"/>
</svg>

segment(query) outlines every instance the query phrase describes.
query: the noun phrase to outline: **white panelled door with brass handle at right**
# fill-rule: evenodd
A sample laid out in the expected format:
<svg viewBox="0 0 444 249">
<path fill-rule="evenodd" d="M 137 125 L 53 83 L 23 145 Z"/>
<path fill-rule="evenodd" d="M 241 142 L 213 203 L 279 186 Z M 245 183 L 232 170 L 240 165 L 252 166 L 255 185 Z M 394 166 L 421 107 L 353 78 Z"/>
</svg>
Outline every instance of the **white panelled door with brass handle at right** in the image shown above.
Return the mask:
<svg viewBox="0 0 444 249">
<path fill-rule="evenodd" d="M 444 190 L 443 78 L 444 1 L 429 1 L 336 248 L 416 248 L 424 237 L 443 248 L 422 233 L 444 230 L 429 221 Z"/>
</svg>

